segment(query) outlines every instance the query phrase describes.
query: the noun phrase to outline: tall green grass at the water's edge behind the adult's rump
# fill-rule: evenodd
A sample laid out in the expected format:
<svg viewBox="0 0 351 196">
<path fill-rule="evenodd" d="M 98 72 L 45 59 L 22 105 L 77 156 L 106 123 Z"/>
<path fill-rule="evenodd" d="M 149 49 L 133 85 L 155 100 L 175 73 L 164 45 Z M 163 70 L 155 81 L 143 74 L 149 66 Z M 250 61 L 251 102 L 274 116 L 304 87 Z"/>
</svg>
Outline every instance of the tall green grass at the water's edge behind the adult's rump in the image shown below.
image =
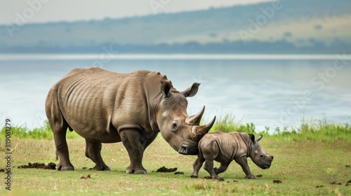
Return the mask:
<svg viewBox="0 0 351 196">
<path fill-rule="evenodd" d="M 5 135 L 6 127 L 2 127 L 0 134 Z M 67 138 L 77 138 L 79 135 L 76 132 L 69 132 L 67 130 Z M 12 125 L 11 138 L 13 139 L 53 139 L 53 132 L 48 124 L 48 120 L 44 121 L 41 127 L 35 127 L 32 130 L 26 125 Z"/>
</svg>

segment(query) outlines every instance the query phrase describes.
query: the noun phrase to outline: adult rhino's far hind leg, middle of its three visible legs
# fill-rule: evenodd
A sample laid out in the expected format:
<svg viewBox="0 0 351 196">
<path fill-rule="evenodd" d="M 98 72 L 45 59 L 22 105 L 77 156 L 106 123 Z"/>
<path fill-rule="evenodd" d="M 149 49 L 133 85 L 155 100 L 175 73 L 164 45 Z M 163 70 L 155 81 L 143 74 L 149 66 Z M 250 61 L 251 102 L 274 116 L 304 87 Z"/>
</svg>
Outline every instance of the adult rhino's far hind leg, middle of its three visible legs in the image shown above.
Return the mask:
<svg viewBox="0 0 351 196">
<path fill-rule="evenodd" d="M 95 162 L 95 167 L 93 167 L 93 169 L 99 171 L 111 171 L 110 167 L 108 167 L 102 160 L 101 148 L 102 145 L 100 142 L 86 139 L 86 157 Z"/>
</svg>

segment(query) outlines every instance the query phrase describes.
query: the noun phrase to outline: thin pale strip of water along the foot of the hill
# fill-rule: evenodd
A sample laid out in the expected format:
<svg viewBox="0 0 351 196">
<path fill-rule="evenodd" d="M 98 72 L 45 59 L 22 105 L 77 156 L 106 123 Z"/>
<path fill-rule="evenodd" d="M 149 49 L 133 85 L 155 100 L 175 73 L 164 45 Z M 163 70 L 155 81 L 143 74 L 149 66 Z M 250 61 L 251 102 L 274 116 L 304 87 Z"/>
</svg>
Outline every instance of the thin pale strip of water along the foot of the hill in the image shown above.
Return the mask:
<svg viewBox="0 0 351 196">
<path fill-rule="evenodd" d="M 334 60 L 338 57 L 351 59 L 345 54 L 147 54 L 126 53 L 107 54 L 109 59 L 228 59 L 228 60 Z M 69 60 L 69 59 L 99 59 L 98 53 L 0 53 L 0 61 L 11 60 Z"/>
</svg>

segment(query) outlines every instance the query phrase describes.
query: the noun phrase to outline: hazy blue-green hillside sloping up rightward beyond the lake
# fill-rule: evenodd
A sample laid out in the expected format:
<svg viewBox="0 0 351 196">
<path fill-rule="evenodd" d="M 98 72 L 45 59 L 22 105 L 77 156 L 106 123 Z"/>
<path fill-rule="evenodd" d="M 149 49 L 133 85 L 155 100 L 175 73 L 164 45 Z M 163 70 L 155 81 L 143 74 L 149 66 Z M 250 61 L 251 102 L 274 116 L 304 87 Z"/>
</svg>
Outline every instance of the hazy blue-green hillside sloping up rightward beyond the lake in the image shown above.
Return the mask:
<svg viewBox="0 0 351 196">
<path fill-rule="evenodd" d="M 0 52 L 351 52 L 351 1 L 290 0 L 123 19 L 0 26 Z M 12 37 L 11 37 L 12 36 Z"/>
</svg>

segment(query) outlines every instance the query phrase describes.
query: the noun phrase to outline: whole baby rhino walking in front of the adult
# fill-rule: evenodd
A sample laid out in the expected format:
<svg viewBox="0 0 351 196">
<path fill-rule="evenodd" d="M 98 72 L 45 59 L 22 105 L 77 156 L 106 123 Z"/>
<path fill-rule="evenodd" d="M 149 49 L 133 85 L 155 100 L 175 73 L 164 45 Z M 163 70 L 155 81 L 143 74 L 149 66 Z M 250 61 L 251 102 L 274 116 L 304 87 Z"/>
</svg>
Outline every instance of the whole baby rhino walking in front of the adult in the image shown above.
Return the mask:
<svg viewBox="0 0 351 196">
<path fill-rule="evenodd" d="M 205 134 L 199 141 L 199 155 L 194 164 L 194 172 L 190 177 L 197 178 L 199 169 L 205 162 L 204 169 L 211 175 L 211 178 L 218 178 L 217 174 L 225 172 L 232 160 L 235 160 L 246 174 L 246 179 L 255 179 L 250 172 L 247 158 L 260 168 L 268 169 L 273 160 L 273 156 L 267 155 L 258 141 L 262 135 L 255 139 L 253 134 L 241 132 L 211 132 Z M 220 162 L 219 168 L 213 168 L 213 160 Z"/>
</svg>

